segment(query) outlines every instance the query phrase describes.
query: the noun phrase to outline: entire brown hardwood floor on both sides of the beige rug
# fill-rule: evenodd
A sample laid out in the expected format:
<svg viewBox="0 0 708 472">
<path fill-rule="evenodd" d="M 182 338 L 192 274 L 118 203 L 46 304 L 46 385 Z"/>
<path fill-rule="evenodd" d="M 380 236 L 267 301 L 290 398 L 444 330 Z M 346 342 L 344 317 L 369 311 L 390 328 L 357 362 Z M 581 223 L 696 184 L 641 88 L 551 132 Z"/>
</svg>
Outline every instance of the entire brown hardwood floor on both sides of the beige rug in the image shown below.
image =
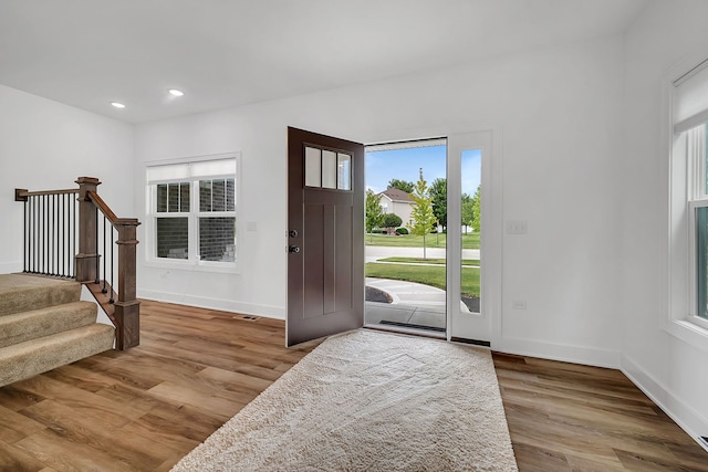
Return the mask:
<svg viewBox="0 0 708 472">
<path fill-rule="evenodd" d="M 0 471 L 167 471 L 319 343 L 284 324 L 143 302 L 142 344 L 0 388 Z M 523 471 L 708 471 L 621 373 L 494 354 Z"/>
</svg>

